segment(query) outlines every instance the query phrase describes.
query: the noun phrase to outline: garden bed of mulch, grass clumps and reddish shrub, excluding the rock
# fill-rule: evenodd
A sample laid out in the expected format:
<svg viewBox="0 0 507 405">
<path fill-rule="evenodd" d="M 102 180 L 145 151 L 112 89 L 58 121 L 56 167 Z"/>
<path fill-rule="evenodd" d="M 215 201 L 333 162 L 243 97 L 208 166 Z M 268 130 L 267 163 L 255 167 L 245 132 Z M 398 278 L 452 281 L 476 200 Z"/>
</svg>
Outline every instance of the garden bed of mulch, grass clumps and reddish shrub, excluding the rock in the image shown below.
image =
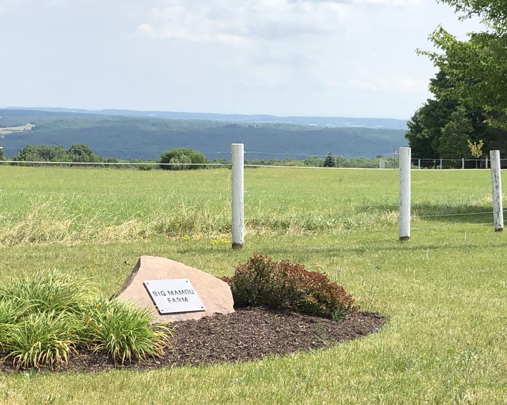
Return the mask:
<svg viewBox="0 0 507 405">
<path fill-rule="evenodd" d="M 160 324 L 149 309 L 97 298 L 87 280 L 41 272 L 0 286 L 0 372 L 154 369 L 317 349 L 376 332 L 325 274 L 255 254 L 238 264 L 236 311 Z"/>
</svg>

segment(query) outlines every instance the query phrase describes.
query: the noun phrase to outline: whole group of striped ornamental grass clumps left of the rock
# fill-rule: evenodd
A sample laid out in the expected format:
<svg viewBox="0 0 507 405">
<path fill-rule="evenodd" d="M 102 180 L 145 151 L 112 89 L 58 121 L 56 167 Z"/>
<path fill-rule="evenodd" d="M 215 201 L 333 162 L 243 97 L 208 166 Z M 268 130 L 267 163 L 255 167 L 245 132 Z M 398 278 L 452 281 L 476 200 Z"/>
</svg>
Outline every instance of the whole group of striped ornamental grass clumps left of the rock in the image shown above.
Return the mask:
<svg viewBox="0 0 507 405">
<path fill-rule="evenodd" d="M 167 327 L 148 310 L 97 300 L 86 279 L 40 272 L 0 285 L 0 352 L 19 369 L 53 368 L 71 352 L 103 351 L 115 361 L 160 356 Z"/>
</svg>

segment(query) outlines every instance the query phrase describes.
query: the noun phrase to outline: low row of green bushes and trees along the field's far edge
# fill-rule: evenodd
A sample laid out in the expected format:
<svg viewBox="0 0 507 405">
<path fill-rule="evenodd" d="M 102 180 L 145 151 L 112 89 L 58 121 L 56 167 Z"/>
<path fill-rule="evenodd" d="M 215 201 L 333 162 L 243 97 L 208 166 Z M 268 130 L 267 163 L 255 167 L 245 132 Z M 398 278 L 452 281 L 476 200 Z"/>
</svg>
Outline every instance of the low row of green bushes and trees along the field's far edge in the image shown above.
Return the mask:
<svg viewBox="0 0 507 405">
<path fill-rule="evenodd" d="M 0 149 L 0 158 L 2 160 L 11 160 Z M 328 153 L 327 156 L 309 156 L 305 159 L 245 159 L 245 165 L 250 166 L 300 166 L 300 167 L 336 167 L 336 168 L 376 168 L 379 167 L 380 159 L 389 159 L 378 155 L 374 158 L 334 156 Z M 204 154 L 194 151 L 191 148 L 174 148 L 167 150 L 160 155 L 158 159 L 118 159 L 116 157 L 103 157 L 96 155 L 93 150 L 84 144 L 74 144 L 68 149 L 62 145 L 26 145 L 19 153 L 12 157 L 12 160 L 19 162 L 12 165 L 23 166 L 47 166 L 47 163 L 59 163 L 61 166 L 70 166 L 73 164 L 87 164 L 88 166 L 104 166 L 114 168 L 130 168 L 137 170 L 192 170 L 203 168 L 217 168 L 230 165 L 228 159 L 209 160 Z M 36 162 L 36 163 L 22 163 Z M 136 165 L 124 165 L 125 163 L 134 163 Z M 93 165 L 96 164 L 96 165 Z"/>
</svg>

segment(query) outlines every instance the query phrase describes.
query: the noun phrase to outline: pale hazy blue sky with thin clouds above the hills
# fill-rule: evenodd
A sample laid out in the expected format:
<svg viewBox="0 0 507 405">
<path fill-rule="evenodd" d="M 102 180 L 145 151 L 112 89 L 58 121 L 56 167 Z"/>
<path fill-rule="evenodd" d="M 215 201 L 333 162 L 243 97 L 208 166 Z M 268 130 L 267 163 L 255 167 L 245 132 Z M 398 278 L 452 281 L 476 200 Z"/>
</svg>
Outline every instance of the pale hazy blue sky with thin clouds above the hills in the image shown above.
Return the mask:
<svg viewBox="0 0 507 405">
<path fill-rule="evenodd" d="M 0 0 L 0 107 L 408 119 L 433 0 Z"/>
</svg>

